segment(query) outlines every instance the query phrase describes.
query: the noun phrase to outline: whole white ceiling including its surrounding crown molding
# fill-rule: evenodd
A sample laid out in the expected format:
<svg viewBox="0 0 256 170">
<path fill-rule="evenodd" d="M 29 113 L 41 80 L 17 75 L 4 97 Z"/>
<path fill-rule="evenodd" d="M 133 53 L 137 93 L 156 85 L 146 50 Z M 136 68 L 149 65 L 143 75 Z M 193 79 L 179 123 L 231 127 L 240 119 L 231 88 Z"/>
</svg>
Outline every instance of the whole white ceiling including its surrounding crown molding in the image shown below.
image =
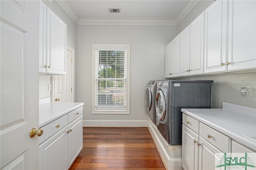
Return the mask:
<svg viewBox="0 0 256 170">
<path fill-rule="evenodd" d="M 176 26 L 199 0 L 57 0 L 78 25 Z M 109 13 L 108 8 L 121 8 Z"/>
</svg>

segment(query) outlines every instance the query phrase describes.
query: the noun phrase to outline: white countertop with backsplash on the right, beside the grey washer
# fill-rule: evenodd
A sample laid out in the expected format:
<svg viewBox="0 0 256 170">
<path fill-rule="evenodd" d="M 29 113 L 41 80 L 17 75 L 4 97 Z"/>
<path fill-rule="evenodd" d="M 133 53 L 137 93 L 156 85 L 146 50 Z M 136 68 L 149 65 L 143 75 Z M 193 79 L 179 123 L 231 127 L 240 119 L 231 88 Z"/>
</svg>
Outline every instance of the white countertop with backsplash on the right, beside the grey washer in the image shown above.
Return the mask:
<svg viewBox="0 0 256 170">
<path fill-rule="evenodd" d="M 256 150 L 256 108 L 223 102 L 222 109 L 181 109 L 183 113 Z M 249 139 L 246 136 L 252 136 Z"/>
</svg>

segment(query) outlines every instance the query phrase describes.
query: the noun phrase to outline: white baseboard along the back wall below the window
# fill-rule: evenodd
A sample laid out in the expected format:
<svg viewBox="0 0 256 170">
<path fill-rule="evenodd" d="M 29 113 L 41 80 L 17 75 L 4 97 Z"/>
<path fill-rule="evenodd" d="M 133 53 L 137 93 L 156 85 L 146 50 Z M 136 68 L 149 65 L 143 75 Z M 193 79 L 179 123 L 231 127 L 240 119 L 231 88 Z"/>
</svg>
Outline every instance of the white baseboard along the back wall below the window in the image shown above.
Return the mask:
<svg viewBox="0 0 256 170">
<path fill-rule="evenodd" d="M 84 120 L 83 127 L 148 127 L 148 120 Z"/>
</svg>

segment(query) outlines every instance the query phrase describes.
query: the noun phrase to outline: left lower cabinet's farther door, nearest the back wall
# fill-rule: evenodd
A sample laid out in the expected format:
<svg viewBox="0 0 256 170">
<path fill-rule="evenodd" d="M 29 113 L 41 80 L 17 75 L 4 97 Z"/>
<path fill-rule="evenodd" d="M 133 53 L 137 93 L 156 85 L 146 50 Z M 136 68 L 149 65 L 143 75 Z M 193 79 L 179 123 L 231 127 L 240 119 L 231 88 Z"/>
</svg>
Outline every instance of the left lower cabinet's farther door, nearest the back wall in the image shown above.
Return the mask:
<svg viewBox="0 0 256 170">
<path fill-rule="evenodd" d="M 83 148 L 83 116 L 68 125 L 68 168 Z"/>
</svg>

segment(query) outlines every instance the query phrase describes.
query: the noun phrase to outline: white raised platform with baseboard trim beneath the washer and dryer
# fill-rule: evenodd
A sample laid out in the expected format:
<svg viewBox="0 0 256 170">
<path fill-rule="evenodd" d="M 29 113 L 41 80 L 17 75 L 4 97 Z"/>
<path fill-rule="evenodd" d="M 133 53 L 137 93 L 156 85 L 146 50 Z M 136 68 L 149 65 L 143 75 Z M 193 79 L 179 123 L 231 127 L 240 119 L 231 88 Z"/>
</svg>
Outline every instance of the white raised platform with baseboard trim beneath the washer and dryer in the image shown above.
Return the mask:
<svg viewBox="0 0 256 170">
<path fill-rule="evenodd" d="M 149 118 L 148 118 L 148 130 L 168 170 L 182 170 L 181 146 L 169 145 L 164 140 L 160 132 L 158 131 L 156 125 L 154 125 Z"/>
</svg>

